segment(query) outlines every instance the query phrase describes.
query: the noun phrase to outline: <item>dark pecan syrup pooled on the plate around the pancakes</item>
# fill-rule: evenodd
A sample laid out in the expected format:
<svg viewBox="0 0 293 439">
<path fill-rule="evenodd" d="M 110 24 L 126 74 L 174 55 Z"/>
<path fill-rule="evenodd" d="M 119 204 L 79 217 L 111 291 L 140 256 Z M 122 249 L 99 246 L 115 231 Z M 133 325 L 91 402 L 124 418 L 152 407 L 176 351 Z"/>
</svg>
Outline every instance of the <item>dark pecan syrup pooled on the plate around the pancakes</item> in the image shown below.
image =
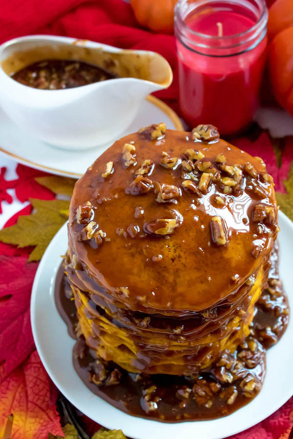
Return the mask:
<svg viewBox="0 0 293 439">
<path fill-rule="evenodd" d="M 250 336 L 233 354 L 225 352 L 194 377 L 133 374 L 113 362 L 97 361 L 95 352 L 78 331 L 76 304 L 62 264 L 55 283 L 55 301 L 70 336 L 77 339 L 73 350 L 76 372 L 93 393 L 133 416 L 178 422 L 215 419 L 232 413 L 260 391 L 266 349 L 281 338 L 288 324 L 289 307 L 278 277 L 276 249 L 271 263 L 268 284 L 256 304 Z M 96 379 L 105 375 L 99 385 L 93 382 L 95 374 Z"/>
</svg>

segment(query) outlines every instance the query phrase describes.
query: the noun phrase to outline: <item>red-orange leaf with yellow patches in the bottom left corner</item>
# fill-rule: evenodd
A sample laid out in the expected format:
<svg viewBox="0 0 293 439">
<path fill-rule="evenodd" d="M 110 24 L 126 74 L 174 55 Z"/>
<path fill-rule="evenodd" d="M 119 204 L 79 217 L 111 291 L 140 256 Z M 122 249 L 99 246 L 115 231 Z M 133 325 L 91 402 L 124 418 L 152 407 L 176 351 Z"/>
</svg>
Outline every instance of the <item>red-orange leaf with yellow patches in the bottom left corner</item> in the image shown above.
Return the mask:
<svg viewBox="0 0 293 439">
<path fill-rule="evenodd" d="M 11 439 L 47 439 L 48 433 L 63 436 L 52 386 L 34 351 L 0 385 L 0 437 L 10 414 L 13 415 Z"/>
</svg>

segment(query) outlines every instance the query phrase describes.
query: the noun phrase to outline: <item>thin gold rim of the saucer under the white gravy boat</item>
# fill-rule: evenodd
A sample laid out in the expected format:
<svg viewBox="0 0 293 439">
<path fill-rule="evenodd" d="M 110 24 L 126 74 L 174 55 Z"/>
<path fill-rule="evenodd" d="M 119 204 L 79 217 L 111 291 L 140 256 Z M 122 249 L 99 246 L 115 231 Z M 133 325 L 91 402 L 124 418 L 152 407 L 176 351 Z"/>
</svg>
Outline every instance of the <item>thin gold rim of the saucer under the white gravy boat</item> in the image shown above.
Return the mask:
<svg viewBox="0 0 293 439">
<path fill-rule="evenodd" d="M 171 122 L 173 123 L 176 130 L 184 131 L 184 126 L 183 126 L 179 116 L 175 113 L 175 111 L 171 107 L 169 107 L 169 105 L 167 105 L 165 102 L 163 102 L 163 100 L 160 100 L 152 95 L 147 95 L 146 100 L 148 102 L 150 102 L 152 105 L 155 105 L 160 110 L 162 110 L 167 115 L 169 120 L 171 120 Z M 49 172 L 49 173 L 54 174 L 54 175 L 60 175 L 62 177 L 71 177 L 71 178 L 77 178 L 77 179 L 79 179 L 80 177 L 83 176 L 83 174 L 78 174 L 76 172 L 69 172 L 69 171 L 67 172 L 67 171 L 63 171 L 62 169 L 52 168 L 51 166 L 45 166 L 45 165 L 36 163 L 32 160 L 27 160 L 24 157 L 21 157 L 17 154 L 14 154 L 14 153 L 7 151 L 5 148 L 2 148 L 1 146 L 0 146 L 0 153 L 5 155 L 6 157 L 8 157 L 11 160 L 15 160 L 15 161 L 18 161 L 18 162 L 26 165 L 26 166 L 29 166 L 30 168 L 39 169 L 40 171 Z M 70 151 L 68 153 L 70 154 Z"/>
</svg>

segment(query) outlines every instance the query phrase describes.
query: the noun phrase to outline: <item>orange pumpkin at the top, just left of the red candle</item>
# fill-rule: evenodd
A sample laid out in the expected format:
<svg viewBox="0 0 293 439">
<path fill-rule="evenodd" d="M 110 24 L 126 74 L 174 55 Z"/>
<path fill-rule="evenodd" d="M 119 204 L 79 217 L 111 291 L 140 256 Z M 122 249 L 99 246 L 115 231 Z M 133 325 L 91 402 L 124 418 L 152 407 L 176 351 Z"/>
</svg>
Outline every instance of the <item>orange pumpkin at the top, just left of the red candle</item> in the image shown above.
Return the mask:
<svg viewBox="0 0 293 439">
<path fill-rule="evenodd" d="M 136 20 L 154 32 L 172 33 L 177 0 L 131 0 Z"/>
</svg>

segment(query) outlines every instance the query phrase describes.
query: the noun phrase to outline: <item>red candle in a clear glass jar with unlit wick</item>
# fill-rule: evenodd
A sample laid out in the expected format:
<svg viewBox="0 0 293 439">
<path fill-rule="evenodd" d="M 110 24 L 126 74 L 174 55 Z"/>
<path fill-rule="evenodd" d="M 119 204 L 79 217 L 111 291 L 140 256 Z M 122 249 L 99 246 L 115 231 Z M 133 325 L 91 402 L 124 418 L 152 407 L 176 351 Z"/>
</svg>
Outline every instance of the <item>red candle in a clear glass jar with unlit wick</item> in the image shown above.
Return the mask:
<svg viewBox="0 0 293 439">
<path fill-rule="evenodd" d="M 221 135 L 251 123 L 258 106 L 267 46 L 264 0 L 179 0 L 175 35 L 180 108 L 190 127 Z"/>
</svg>

